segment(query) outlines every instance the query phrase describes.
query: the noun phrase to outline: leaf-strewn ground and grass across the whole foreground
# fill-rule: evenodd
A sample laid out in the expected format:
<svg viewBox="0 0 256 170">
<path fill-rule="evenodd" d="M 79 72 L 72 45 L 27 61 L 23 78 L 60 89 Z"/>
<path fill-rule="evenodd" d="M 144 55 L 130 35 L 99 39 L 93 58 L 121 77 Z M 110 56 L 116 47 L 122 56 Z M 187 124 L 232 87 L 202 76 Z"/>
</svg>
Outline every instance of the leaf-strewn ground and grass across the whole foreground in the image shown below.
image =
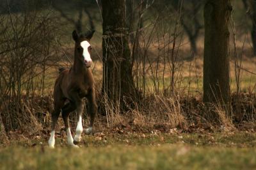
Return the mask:
<svg viewBox="0 0 256 170">
<path fill-rule="evenodd" d="M 0 169 L 256 168 L 256 134 L 250 131 L 109 130 L 83 135 L 80 148 L 70 148 L 60 133 L 54 149 L 47 147 L 47 135 L 21 136 L 0 144 Z"/>
</svg>

